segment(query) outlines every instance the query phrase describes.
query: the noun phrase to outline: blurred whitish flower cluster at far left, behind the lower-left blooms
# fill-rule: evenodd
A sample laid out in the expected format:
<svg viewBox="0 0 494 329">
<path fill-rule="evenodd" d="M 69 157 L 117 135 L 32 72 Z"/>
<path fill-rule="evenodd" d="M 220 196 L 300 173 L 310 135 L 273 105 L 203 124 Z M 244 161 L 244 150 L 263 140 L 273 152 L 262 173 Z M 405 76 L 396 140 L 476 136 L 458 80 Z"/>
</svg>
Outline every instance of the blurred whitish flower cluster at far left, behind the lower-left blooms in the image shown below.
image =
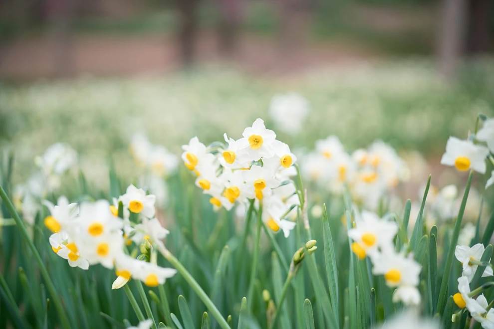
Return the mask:
<svg viewBox="0 0 494 329">
<path fill-rule="evenodd" d="M 14 202 L 17 208 L 22 209 L 22 217 L 29 224 L 34 222 L 41 200 L 47 193 L 58 189 L 61 177 L 75 167 L 77 153 L 67 144 L 56 143 L 42 156 L 36 157 L 34 163 L 38 169 L 14 191 Z"/>
</svg>

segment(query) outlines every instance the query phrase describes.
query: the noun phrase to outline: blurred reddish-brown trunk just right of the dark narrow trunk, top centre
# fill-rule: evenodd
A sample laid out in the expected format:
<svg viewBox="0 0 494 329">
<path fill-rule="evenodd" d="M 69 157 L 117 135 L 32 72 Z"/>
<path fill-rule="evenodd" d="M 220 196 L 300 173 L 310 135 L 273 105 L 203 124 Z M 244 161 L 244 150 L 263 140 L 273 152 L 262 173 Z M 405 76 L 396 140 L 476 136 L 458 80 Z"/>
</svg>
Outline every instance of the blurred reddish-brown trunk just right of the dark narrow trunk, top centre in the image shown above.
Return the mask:
<svg viewBox="0 0 494 329">
<path fill-rule="evenodd" d="M 219 48 L 222 53 L 232 55 L 237 46 L 239 27 L 244 16 L 243 0 L 218 0 L 218 6 Z"/>
</svg>

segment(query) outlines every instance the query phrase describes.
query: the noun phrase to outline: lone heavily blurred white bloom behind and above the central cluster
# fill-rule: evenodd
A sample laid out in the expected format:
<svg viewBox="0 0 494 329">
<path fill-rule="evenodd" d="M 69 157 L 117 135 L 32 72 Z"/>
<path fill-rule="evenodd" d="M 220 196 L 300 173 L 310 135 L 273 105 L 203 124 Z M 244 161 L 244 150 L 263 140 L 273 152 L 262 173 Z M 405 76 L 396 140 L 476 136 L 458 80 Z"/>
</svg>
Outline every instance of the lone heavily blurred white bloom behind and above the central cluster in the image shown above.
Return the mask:
<svg viewBox="0 0 494 329">
<path fill-rule="evenodd" d="M 296 135 L 309 112 L 307 100 L 296 93 L 275 95 L 269 105 L 269 115 L 276 126 L 290 135 Z"/>
</svg>

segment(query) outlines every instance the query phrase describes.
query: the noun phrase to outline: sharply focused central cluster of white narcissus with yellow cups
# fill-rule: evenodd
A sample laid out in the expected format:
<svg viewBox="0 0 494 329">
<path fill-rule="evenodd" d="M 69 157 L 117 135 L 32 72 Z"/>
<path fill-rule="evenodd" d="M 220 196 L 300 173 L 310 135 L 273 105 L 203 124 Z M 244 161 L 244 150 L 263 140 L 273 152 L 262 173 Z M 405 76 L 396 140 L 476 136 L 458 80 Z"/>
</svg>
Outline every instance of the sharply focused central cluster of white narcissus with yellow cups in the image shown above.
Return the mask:
<svg viewBox="0 0 494 329">
<path fill-rule="evenodd" d="M 276 140 L 261 119 L 247 127 L 242 138 L 224 135 L 226 144 L 206 147 L 197 137 L 184 145 L 182 159 L 196 175 L 196 185 L 210 195 L 215 209 L 232 209 L 235 204 L 262 204 L 262 221 L 285 236 L 295 226 L 286 219 L 299 200 L 290 176 L 296 174 L 295 155 L 288 145 Z"/>
</svg>

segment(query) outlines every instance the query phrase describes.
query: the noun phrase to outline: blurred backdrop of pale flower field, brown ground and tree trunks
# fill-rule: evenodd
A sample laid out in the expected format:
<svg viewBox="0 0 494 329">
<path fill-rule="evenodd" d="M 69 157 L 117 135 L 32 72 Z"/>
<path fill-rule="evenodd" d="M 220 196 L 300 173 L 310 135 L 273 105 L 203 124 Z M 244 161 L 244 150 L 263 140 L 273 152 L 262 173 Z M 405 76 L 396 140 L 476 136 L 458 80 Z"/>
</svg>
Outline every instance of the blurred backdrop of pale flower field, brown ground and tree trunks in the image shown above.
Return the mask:
<svg viewBox="0 0 494 329">
<path fill-rule="evenodd" d="M 134 133 L 178 154 L 257 117 L 276 130 L 272 97 L 296 92 L 310 110 L 281 140 L 382 139 L 423 183 L 493 115 L 493 54 L 492 0 L 0 0 L 0 145 L 19 180 L 61 141 L 106 184 Z"/>
</svg>

